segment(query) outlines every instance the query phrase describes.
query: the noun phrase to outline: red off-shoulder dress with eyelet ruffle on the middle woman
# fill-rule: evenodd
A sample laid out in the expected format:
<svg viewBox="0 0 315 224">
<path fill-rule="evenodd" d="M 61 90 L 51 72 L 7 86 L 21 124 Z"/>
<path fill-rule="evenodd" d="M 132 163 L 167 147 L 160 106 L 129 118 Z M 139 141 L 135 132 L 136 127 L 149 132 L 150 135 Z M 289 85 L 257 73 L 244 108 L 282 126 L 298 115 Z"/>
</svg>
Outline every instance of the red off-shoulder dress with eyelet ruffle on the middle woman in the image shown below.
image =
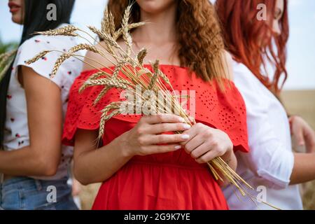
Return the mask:
<svg viewBox="0 0 315 224">
<path fill-rule="evenodd" d="M 151 69 L 151 66 L 146 66 Z M 225 131 L 234 150 L 248 151 L 246 108 L 233 83 L 219 90 L 213 81 L 206 83 L 187 68 L 161 65 L 175 90 L 195 90 L 195 111 L 198 123 Z M 104 69 L 110 72 L 110 69 Z M 83 71 L 76 78 L 69 95 L 64 124 L 63 143 L 73 145 L 76 130 L 98 130 L 104 106 L 120 101 L 120 92 L 110 90 L 97 106 L 93 106 L 102 87 L 90 87 L 78 93 L 83 80 L 97 70 Z M 230 81 L 226 80 L 226 83 Z M 119 115 L 105 125 L 103 144 L 109 144 L 132 129 L 141 116 Z M 91 174 L 92 175 L 92 174 Z M 207 165 L 200 165 L 184 150 L 148 156 L 134 156 L 110 179 L 102 183 L 92 209 L 184 210 L 228 209 L 225 197 Z"/>
</svg>

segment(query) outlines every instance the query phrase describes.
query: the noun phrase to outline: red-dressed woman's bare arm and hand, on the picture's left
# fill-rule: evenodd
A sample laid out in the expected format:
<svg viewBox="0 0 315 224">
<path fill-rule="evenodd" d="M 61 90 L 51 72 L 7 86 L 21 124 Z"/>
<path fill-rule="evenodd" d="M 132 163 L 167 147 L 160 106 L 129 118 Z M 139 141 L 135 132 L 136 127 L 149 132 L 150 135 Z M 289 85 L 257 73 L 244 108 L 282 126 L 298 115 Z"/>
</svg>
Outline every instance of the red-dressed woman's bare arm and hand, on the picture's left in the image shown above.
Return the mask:
<svg viewBox="0 0 315 224">
<path fill-rule="evenodd" d="M 134 155 L 167 153 L 181 149 L 186 134 L 161 134 L 187 130 L 174 115 L 146 116 L 129 132 L 98 148 L 97 132 L 78 130 L 74 146 L 74 175 L 83 184 L 103 182 L 123 167 Z M 160 144 L 168 144 L 160 146 Z"/>
</svg>

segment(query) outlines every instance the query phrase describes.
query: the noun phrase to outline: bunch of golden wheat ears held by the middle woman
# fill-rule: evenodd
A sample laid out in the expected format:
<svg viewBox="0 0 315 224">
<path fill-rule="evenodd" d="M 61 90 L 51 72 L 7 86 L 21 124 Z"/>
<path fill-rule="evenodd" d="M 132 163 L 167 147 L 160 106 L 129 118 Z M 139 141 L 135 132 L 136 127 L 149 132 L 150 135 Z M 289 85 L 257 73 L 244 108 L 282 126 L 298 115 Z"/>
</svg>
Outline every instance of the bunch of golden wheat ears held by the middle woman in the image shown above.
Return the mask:
<svg viewBox="0 0 315 224">
<path fill-rule="evenodd" d="M 104 57 L 104 59 L 109 60 L 111 64 L 114 65 L 111 66 L 111 68 L 108 68 L 110 69 L 111 73 L 107 73 L 106 71 L 103 71 L 102 69 L 97 69 L 95 66 L 85 61 L 85 63 L 90 64 L 90 66 L 94 67 L 98 71 L 90 76 L 90 78 L 88 78 L 83 83 L 79 91 L 82 92 L 87 87 L 96 85 L 103 87 L 102 91 L 94 100 L 94 105 L 97 104 L 99 100 L 102 99 L 102 97 L 106 94 L 106 92 L 111 90 L 111 88 L 116 88 L 118 90 L 128 90 L 133 94 L 136 94 L 137 97 L 141 97 L 143 99 L 142 102 L 147 102 L 148 99 L 145 99 L 146 97 L 144 97 L 144 94 L 139 94 L 139 92 L 137 92 L 136 90 L 137 86 L 141 86 L 142 92 L 145 90 L 150 90 L 153 92 L 164 92 L 163 98 L 167 102 L 170 102 L 167 105 L 172 107 L 172 109 L 179 111 L 179 116 L 184 118 L 186 120 L 186 123 L 188 123 L 189 125 L 194 125 L 195 121 L 192 121 L 192 119 L 188 116 L 186 110 L 183 109 L 181 103 L 179 102 L 179 96 L 172 94 L 172 91 L 168 90 L 167 86 L 169 87 L 169 89 L 174 91 L 167 76 L 162 73 L 162 71 L 160 71 L 159 61 L 156 60 L 155 62 L 151 63 L 153 68 L 153 72 L 151 72 L 144 66 L 144 58 L 147 55 L 147 50 L 143 48 L 139 52 L 134 53 L 132 49 L 132 36 L 130 35 L 130 30 L 144 26 L 145 23 L 137 22 L 130 24 L 130 13 L 131 6 L 128 6 L 125 9 L 123 21 L 121 22 L 122 27 L 116 31 L 113 15 L 106 8 L 104 10 L 104 18 L 102 20 L 102 29 L 97 29 L 92 26 L 88 27 L 90 31 L 97 35 L 98 38 L 94 38 L 87 32 L 83 31 L 82 29 L 78 29 L 73 25 L 68 25 L 66 27 L 49 31 L 37 32 L 37 34 L 47 36 L 78 36 L 87 40 L 87 38 L 79 34 L 79 32 L 82 32 L 89 35 L 90 38 L 92 38 L 93 40 L 92 42 L 98 43 L 99 46 L 94 46 L 91 41 L 87 40 L 88 43 L 78 44 L 69 49 L 68 52 L 62 52 L 62 55 L 55 62 L 55 66 L 51 73 L 51 78 L 56 75 L 59 66 L 66 59 L 69 59 L 69 57 L 76 57 L 77 59 L 80 59 L 80 57 L 86 58 L 82 55 L 76 54 L 76 52 L 78 52 L 79 50 L 89 50 L 91 52 L 97 53 L 98 55 L 101 55 L 102 57 Z M 120 45 L 118 45 L 118 38 L 123 38 L 123 41 L 127 46 L 125 50 Z M 32 59 L 29 59 L 26 63 L 34 63 L 49 52 L 51 51 L 45 50 L 43 52 L 40 52 Z M 83 59 L 80 60 L 83 61 Z M 102 65 L 102 67 L 106 67 L 101 62 L 97 62 L 93 59 L 90 60 Z M 120 73 L 123 73 L 123 76 L 121 76 Z M 121 110 L 121 105 L 123 103 L 125 102 L 111 102 L 111 104 L 105 106 L 105 108 L 102 110 L 101 120 L 99 124 L 99 139 L 102 138 L 104 135 L 104 124 L 106 123 L 106 121 L 113 118 L 114 116 L 117 116 L 118 114 L 125 112 Z M 158 104 L 160 103 L 161 102 L 158 102 Z M 142 107 L 144 105 L 142 105 L 141 103 L 136 103 L 134 104 L 134 106 Z M 168 111 L 172 111 L 172 109 L 159 108 L 160 111 L 158 111 L 158 113 L 167 113 Z M 249 197 L 251 197 L 251 195 L 247 193 L 246 188 L 253 188 L 248 185 L 248 183 L 246 183 L 244 179 L 241 179 L 241 177 L 233 169 L 231 169 L 223 159 L 219 157 L 215 158 L 214 160 L 208 162 L 208 165 L 216 181 L 223 181 L 223 177 L 221 177 L 221 175 L 219 174 L 221 173 L 225 179 L 236 186 L 241 195 L 248 195 Z M 254 201 L 255 199 L 251 197 L 251 200 Z"/>
</svg>

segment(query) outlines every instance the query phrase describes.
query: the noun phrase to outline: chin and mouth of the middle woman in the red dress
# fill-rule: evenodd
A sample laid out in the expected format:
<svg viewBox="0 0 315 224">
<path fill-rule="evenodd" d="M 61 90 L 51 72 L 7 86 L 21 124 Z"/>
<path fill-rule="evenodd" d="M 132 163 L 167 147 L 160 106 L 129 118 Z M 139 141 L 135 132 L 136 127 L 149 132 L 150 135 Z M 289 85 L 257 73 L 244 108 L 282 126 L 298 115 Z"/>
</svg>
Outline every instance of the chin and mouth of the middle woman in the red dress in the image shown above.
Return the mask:
<svg viewBox="0 0 315 224">
<path fill-rule="evenodd" d="M 176 0 L 137 0 L 141 10 L 144 10 L 146 13 L 160 13 L 163 10 L 169 8 Z"/>
</svg>

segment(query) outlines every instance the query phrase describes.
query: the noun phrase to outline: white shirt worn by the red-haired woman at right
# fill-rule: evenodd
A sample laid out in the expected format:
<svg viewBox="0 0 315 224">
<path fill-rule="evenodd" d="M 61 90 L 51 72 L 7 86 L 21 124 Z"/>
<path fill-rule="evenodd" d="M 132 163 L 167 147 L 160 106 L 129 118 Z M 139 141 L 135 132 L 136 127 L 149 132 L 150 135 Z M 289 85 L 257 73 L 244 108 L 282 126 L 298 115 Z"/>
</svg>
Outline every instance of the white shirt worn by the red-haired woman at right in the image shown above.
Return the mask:
<svg viewBox="0 0 315 224">
<path fill-rule="evenodd" d="M 248 190 L 254 198 L 283 210 L 303 209 L 298 186 L 289 186 L 294 156 L 285 109 L 244 64 L 233 62 L 233 70 L 246 104 L 250 148 L 247 154 L 237 153 L 237 173 L 255 188 Z M 272 209 L 236 194 L 233 186 L 223 192 L 230 209 Z"/>
</svg>

